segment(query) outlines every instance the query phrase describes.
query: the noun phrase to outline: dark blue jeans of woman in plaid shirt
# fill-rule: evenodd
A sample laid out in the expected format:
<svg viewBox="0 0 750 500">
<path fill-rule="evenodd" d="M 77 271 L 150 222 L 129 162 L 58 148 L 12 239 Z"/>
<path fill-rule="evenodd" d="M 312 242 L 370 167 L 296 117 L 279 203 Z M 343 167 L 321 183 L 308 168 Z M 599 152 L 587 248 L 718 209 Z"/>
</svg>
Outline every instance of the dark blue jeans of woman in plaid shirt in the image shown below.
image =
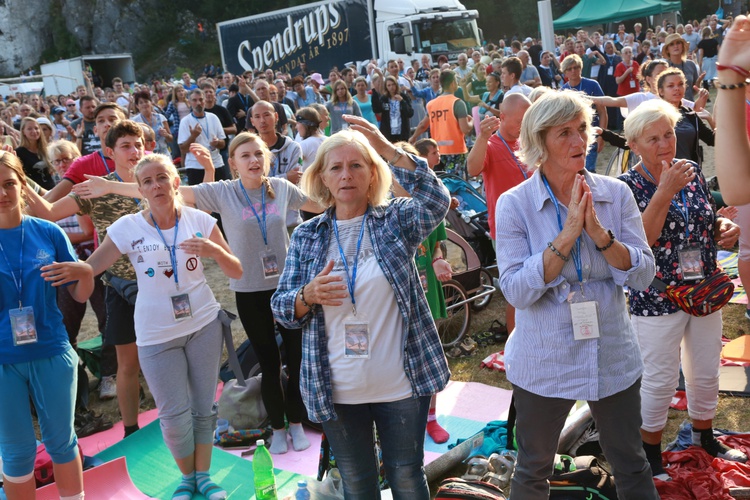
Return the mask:
<svg viewBox="0 0 750 500">
<path fill-rule="evenodd" d="M 395 500 L 429 500 L 424 436 L 430 396 L 391 403 L 334 405 L 336 420 L 323 422 L 344 482 L 344 497 L 380 498 L 372 424 L 378 429 L 385 477 Z"/>
</svg>

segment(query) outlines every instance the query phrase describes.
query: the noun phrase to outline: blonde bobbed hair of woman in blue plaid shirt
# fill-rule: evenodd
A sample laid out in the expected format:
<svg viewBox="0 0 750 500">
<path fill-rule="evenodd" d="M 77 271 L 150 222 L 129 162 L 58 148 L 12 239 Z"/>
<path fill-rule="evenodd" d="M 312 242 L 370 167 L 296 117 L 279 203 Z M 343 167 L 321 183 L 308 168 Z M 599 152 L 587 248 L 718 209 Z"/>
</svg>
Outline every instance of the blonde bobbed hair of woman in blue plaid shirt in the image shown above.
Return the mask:
<svg viewBox="0 0 750 500">
<path fill-rule="evenodd" d="M 356 147 L 365 161 L 374 169 L 373 182 L 368 195 L 372 206 L 385 205 L 393 183 L 390 168 L 378 153 L 375 152 L 367 138 L 360 132 L 342 130 L 327 138 L 318 148 L 315 161 L 302 174 L 300 185 L 311 200 L 324 207 L 336 205 L 333 195 L 323 184 L 323 172 L 328 167 L 328 156 L 331 151 L 345 146 Z"/>
</svg>

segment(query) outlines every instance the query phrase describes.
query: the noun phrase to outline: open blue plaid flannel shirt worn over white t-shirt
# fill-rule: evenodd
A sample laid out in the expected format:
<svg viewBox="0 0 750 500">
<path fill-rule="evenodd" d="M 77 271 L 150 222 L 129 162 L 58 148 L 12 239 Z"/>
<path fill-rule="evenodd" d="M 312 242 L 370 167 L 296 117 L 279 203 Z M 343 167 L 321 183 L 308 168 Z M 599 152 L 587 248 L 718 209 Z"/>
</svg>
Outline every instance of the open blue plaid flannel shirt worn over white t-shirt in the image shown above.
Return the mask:
<svg viewBox="0 0 750 500">
<path fill-rule="evenodd" d="M 440 392 L 450 371 L 430 314 L 414 264 L 419 244 L 443 221 L 450 196 L 443 184 L 417 157 L 412 172 L 393 168 L 394 177 L 412 198 L 395 198 L 385 206 L 370 207 L 367 227 L 380 268 L 393 289 L 404 331 L 404 371 L 413 397 Z M 274 317 L 289 328 L 302 328 L 300 388 L 310 420 L 335 419 L 331 366 L 323 308 L 313 305 L 302 318 L 294 317 L 294 303 L 300 288 L 325 267 L 331 238 L 334 208 L 309 220 L 294 231 L 286 267 L 271 299 Z M 364 305 L 376 314 L 377 304 Z M 378 383 L 373 380 L 372 383 Z"/>
</svg>

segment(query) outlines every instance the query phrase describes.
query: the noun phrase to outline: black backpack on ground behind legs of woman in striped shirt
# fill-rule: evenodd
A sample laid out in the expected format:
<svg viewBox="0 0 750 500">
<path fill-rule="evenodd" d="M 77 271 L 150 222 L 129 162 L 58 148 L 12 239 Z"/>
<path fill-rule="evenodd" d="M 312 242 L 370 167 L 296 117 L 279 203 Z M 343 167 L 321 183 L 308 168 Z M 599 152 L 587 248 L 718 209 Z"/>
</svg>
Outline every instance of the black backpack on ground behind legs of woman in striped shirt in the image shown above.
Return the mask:
<svg viewBox="0 0 750 500">
<path fill-rule="evenodd" d="M 590 455 L 558 455 L 549 485 L 551 499 L 617 500 L 614 476 Z"/>
</svg>

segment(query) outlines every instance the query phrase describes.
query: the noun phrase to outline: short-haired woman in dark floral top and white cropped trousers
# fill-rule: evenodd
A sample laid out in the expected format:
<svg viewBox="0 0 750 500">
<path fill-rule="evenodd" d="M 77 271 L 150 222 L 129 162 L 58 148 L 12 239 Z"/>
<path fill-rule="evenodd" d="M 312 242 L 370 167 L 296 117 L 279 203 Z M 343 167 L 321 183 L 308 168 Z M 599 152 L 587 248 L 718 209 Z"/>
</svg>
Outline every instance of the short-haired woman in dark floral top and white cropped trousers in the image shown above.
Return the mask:
<svg viewBox="0 0 750 500">
<path fill-rule="evenodd" d="M 681 76 L 681 75 L 680 75 Z M 641 157 L 623 174 L 643 212 L 656 276 L 667 285 L 699 283 L 717 268 L 716 245 L 731 248 L 739 228 L 717 217 L 698 164 L 676 160 L 680 111 L 666 101 L 641 104 L 625 120 L 625 137 Z M 719 443 L 713 418 L 719 398 L 721 311 L 692 316 L 655 286 L 630 292 L 630 313 L 643 356 L 641 436 L 654 477 L 669 479 L 661 461 L 661 437 L 682 365 L 693 423 L 693 444 L 711 456 L 744 462 Z"/>
</svg>

